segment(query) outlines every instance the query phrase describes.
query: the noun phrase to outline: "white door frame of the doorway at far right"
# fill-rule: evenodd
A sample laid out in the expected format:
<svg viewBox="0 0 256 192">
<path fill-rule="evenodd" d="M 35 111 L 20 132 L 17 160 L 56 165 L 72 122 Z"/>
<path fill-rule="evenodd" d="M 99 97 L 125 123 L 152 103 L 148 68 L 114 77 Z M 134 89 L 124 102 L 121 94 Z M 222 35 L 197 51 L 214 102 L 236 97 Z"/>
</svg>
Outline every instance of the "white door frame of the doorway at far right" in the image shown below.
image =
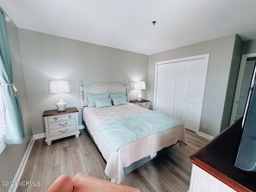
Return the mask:
<svg viewBox="0 0 256 192">
<path fill-rule="evenodd" d="M 236 110 L 237 110 L 237 106 L 238 106 L 238 99 L 239 99 L 239 96 L 240 96 L 246 59 L 248 57 L 256 57 L 256 53 L 250 53 L 250 54 L 242 55 L 240 68 L 239 68 L 239 74 L 238 74 L 237 83 L 236 83 L 236 92 L 235 92 L 235 96 L 234 96 L 234 102 L 233 102 L 233 106 L 232 106 L 232 112 L 231 112 L 229 124 L 234 123 L 235 119 L 236 119 Z"/>
</svg>

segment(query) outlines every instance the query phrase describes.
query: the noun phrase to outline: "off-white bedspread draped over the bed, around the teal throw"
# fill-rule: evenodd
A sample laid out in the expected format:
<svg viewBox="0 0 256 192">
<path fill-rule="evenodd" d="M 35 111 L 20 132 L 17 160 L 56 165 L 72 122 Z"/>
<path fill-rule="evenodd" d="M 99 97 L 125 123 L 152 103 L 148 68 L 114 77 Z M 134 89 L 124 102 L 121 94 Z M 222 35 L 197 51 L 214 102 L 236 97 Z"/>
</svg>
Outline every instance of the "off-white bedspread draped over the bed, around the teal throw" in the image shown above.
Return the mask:
<svg viewBox="0 0 256 192">
<path fill-rule="evenodd" d="M 117 183 L 124 182 L 124 167 L 129 166 L 133 162 L 140 160 L 164 147 L 175 144 L 180 140 L 180 145 L 186 145 L 186 132 L 184 126 L 178 126 L 170 130 L 153 134 L 146 138 L 137 140 L 130 144 L 120 147 L 117 151 L 113 151 L 108 142 L 98 132 L 97 127 L 113 118 L 120 118 L 148 112 L 148 109 L 128 103 L 127 105 L 96 108 L 85 107 L 83 109 L 83 119 L 86 126 L 94 138 L 102 156 L 107 164 L 105 174 L 115 180 Z"/>
</svg>

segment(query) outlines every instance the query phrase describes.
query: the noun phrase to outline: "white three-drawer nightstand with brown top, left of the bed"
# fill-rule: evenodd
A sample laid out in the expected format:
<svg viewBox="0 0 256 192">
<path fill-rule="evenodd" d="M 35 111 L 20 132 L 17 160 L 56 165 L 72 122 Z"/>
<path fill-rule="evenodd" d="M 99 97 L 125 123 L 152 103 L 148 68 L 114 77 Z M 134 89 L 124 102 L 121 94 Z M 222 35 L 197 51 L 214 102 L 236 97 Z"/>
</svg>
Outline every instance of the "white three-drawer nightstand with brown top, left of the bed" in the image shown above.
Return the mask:
<svg viewBox="0 0 256 192">
<path fill-rule="evenodd" d="M 45 123 L 47 145 L 53 140 L 75 135 L 78 138 L 78 110 L 77 108 L 66 108 L 65 111 L 49 110 L 43 114 Z"/>
</svg>

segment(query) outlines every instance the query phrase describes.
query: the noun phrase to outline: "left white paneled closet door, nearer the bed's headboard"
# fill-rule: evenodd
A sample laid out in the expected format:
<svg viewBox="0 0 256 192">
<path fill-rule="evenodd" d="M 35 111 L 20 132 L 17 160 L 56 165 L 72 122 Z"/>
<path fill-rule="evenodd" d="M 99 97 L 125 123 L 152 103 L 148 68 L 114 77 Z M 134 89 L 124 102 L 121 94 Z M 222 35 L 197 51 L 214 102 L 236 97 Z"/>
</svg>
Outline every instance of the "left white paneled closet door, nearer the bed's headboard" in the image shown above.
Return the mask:
<svg viewBox="0 0 256 192">
<path fill-rule="evenodd" d="M 177 63 L 158 65 L 156 110 L 173 116 Z"/>
</svg>

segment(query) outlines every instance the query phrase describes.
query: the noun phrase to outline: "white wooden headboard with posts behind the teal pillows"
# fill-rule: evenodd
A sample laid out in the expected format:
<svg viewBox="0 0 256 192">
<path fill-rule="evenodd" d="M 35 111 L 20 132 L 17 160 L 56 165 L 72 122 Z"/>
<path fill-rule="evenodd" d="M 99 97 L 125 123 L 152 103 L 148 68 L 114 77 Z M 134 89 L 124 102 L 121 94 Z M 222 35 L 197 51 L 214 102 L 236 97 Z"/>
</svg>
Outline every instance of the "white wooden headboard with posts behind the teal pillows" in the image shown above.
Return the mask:
<svg viewBox="0 0 256 192">
<path fill-rule="evenodd" d="M 82 80 L 79 81 L 80 91 L 80 108 L 83 109 L 88 106 L 87 93 L 104 94 L 104 93 L 122 93 L 126 92 L 126 97 L 129 92 L 129 82 L 126 85 L 122 83 L 93 83 L 88 87 L 83 87 Z"/>
</svg>

